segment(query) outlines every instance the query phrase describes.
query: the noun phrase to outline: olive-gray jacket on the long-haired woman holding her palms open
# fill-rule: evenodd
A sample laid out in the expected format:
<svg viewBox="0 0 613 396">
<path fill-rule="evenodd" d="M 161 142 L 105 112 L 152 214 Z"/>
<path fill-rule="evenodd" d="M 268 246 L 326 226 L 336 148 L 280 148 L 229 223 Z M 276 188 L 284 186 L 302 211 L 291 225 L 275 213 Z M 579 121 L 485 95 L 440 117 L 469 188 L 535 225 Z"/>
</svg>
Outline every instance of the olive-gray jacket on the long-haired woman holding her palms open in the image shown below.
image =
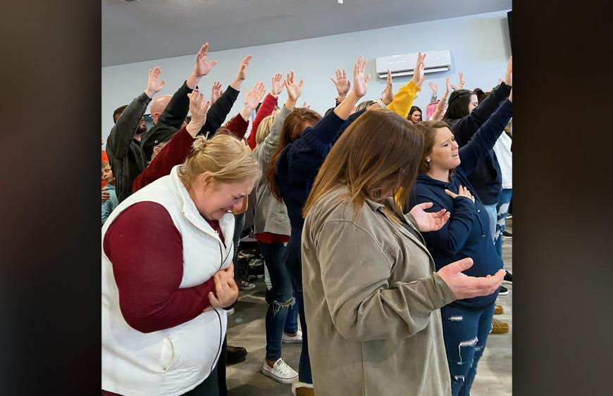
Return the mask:
<svg viewBox="0 0 613 396">
<path fill-rule="evenodd" d="M 318 200 L 302 231 L 315 394 L 451 395 L 440 319 L 450 288 L 411 217 L 396 213 L 413 233 L 366 200 L 354 218 L 354 205 L 338 200 L 347 193 Z"/>
</svg>

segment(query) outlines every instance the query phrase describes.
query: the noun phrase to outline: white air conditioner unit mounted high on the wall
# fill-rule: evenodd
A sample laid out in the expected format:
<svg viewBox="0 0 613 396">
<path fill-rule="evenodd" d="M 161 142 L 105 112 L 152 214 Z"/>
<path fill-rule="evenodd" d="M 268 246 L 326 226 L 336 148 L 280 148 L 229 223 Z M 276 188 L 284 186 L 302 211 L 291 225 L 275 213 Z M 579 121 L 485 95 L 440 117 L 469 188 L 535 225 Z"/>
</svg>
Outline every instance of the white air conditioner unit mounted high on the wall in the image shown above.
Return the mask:
<svg viewBox="0 0 613 396">
<path fill-rule="evenodd" d="M 414 75 L 415 63 L 417 63 L 417 53 L 381 56 L 376 58 L 377 77 L 387 77 L 388 69 L 392 71 L 392 77 Z M 426 51 L 424 73 L 447 72 L 450 68 L 451 53 L 448 49 Z"/>
</svg>

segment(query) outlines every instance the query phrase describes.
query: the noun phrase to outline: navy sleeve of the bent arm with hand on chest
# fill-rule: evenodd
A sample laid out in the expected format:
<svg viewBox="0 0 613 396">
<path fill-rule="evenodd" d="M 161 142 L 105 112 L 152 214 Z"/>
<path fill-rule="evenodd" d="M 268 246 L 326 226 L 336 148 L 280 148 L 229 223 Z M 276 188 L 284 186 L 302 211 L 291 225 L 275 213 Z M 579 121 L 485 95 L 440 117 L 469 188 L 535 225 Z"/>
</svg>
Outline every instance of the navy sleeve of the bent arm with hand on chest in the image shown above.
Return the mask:
<svg viewBox="0 0 613 396">
<path fill-rule="evenodd" d="M 418 193 L 416 199 L 418 204 L 425 202 L 433 203 L 433 206 L 426 210 L 426 212 L 438 212 L 443 209 L 443 206 L 437 200 L 432 199 L 432 197 Z M 459 250 L 464 247 L 476 217 L 475 204 L 469 198 L 457 197 L 453 200 L 453 203 L 453 213 L 445 225 L 438 231 L 424 232 L 422 234 L 428 248 L 432 247 L 433 250 L 438 250 L 449 257 L 457 255 Z"/>
</svg>

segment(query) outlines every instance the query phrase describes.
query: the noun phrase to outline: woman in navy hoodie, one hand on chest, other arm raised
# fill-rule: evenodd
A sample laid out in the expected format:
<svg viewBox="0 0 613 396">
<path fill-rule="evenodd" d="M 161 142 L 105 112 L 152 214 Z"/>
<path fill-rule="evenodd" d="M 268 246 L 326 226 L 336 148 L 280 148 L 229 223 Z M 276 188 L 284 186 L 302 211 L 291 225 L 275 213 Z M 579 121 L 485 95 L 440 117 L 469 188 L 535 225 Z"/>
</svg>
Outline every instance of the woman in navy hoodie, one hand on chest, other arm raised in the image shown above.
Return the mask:
<svg viewBox="0 0 613 396">
<path fill-rule="evenodd" d="M 467 177 L 488 155 L 511 117 L 512 94 L 459 149 L 445 122 L 416 124 L 423 133 L 424 152 L 409 207 L 432 202 L 428 212 L 446 209 L 451 213 L 440 230 L 423 234 L 437 270 L 465 257 L 474 263 L 464 271 L 469 276 L 489 276 L 502 268 L 490 235 L 490 219 Z M 456 300 L 440 309 L 454 396 L 470 393 L 492 326 L 497 294 Z"/>
</svg>

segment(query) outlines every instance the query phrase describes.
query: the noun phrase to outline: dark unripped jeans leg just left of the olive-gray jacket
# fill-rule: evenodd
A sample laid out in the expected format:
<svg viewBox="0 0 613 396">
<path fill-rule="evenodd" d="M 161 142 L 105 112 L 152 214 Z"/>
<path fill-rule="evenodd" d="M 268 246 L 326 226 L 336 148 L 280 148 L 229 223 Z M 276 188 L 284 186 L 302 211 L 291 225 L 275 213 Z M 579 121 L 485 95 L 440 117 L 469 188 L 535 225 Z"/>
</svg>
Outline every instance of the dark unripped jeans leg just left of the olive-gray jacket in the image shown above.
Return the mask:
<svg viewBox="0 0 613 396">
<path fill-rule="evenodd" d="M 302 383 L 313 383 L 311 376 L 311 359 L 309 358 L 309 341 L 307 337 L 307 319 L 304 316 L 304 298 L 302 296 L 302 250 L 300 248 L 300 238 L 302 229 L 293 229 L 290 236 L 290 243 L 287 243 L 287 272 L 292 280 L 300 327 L 302 328 L 302 351 L 300 352 L 300 362 L 298 366 L 298 378 Z"/>
</svg>

